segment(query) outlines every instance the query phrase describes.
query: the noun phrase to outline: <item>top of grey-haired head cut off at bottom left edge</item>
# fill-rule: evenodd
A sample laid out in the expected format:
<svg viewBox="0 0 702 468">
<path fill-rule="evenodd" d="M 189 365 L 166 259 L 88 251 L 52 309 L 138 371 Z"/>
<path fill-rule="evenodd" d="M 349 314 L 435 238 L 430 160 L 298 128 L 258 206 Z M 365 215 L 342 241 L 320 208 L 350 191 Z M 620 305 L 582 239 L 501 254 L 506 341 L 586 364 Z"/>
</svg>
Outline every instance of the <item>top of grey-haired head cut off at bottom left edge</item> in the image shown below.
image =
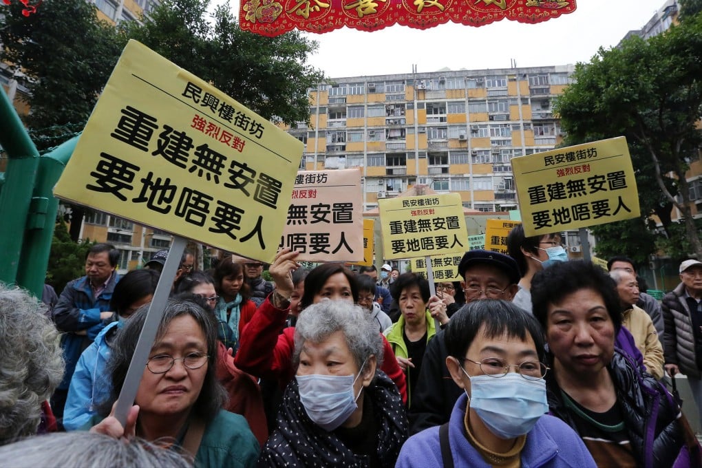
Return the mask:
<svg viewBox="0 0 702 468">
<path fill-rule="evenodd" d="M 93 432 L 53 432 L 0 447 L 0 466 L 34 467 L 192 467 L 190 455 L 144 439 L 115 439 Z"/>
</svg>

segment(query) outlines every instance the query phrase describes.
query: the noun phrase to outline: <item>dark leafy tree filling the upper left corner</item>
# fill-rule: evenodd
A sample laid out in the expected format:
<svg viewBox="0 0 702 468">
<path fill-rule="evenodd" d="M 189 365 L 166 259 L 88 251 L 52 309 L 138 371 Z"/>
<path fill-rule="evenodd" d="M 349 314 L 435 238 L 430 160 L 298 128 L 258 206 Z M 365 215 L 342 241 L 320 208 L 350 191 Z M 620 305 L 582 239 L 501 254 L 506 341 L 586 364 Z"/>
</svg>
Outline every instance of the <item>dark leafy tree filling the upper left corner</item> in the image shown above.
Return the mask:
<svg viewBox="0 0 702 468">
<path fill-rule="evenodd" d="M 81 131 L 117 63 L 117 32 L 98 20 L 86 0 L 45 0 L 37 13 L 22 15 L 13 2 L 0 19 L 0 60 L 29 90 L 32 112 L 23 116 L 39 151 Z M 85 210 L 71 205 L 71 237 L 78 240 Z"/>
</svg>

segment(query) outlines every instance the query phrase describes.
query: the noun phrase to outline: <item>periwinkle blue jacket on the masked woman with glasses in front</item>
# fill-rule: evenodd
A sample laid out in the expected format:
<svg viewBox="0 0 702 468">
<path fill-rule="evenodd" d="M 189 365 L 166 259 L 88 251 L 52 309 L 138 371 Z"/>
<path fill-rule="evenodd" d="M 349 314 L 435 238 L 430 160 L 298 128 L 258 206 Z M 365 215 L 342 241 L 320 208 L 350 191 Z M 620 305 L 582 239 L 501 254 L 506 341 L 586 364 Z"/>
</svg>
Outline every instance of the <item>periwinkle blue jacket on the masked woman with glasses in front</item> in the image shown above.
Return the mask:
<svg viewBox="0 0 702 468">
<path fill-rule="evenodd" d="M 465 393 L 456 401 L 449 420 L 449 444 L 453 465 L 456 467 L 484 467 L 491 464 L 483 460 L 475 448 L 463 435 Z M 527 434 L 527 442 L 522 449 L 522 467 L 592 467 L 595 460 L 581 438 L 567 424 L 549 415 L 543 415 L 534 429 Z M 439 427 L 430 427 L 411 436 L 402 446 L 395 468 L 443 467 L 439 446 Z"/>
</svg>

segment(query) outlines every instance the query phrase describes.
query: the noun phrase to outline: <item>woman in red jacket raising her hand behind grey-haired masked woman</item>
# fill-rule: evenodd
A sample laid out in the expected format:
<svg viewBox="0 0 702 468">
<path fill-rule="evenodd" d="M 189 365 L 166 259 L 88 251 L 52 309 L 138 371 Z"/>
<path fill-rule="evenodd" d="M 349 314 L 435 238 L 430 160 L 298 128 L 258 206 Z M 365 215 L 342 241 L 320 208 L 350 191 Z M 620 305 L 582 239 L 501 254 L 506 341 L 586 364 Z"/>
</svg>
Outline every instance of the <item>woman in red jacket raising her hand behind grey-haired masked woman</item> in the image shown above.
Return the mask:
<svg viewBox="0 0 702 468">
<path fill-rule="evenodd" d="M 268 269 L 275 282 L 275 290 L 258 307 L 251 322 L 241 334 L 239 351 L 234 356 L 234 364 L 241 370 L 263 379 L 277 380 L 284 389 L 295 375 L 292 355 L 294 347 L 294 327 L 285 326 L 291 312 L 292 294 L 295 290 L 291 271 L 299 265 L 297 252 L 283 248 L 277 253 Z M 345 300 L 358 302 L 356 276 L 339 263 L 324 263 L 312 269 L 304 281 L 304 292 L 300 298 L 300 310 L 324 300 Z M 281 333 L 282 329 L 282 333 Z M 383 338 L 383 354 L 392 355 L 390 345 Z M 393 356 L 381 366 L 397 385 L 402 399 L 406 399 L 406 383 L 402 369 Z"/>
</svg>

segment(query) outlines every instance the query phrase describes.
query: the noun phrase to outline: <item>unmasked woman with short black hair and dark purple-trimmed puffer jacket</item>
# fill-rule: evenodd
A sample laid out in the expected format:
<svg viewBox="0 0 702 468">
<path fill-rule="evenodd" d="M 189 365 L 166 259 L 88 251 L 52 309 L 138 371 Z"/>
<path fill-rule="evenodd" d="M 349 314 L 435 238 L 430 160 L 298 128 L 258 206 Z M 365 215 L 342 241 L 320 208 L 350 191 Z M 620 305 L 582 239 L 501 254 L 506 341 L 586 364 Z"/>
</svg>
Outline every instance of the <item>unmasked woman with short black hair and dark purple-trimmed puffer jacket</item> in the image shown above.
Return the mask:
<svg viewBox="0 0 702 468">
<path fill-rule="evenodd" d="M 598 466 L 700 466 L 699 444 L 670 394 L 615 347 L 621 307 L 604 270 L 557 263 L 534 276 L 531 299 L 550 350 L 550 412 L 575 429 Z"/>
</svg>

